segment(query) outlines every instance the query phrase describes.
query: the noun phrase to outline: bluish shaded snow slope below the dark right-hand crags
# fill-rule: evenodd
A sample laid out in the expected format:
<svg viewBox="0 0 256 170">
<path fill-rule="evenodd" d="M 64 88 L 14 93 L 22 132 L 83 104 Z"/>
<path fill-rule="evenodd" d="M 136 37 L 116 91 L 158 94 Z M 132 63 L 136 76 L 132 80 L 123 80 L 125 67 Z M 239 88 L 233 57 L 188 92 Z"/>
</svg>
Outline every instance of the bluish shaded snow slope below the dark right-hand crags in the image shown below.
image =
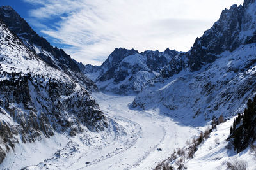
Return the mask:
<svg viewBox="0 0 256 170">
<path fill-rule="evenodd" d="M 232 53 L 221 53 L 199 71 L 184 69 L 170 78 L 150 80 L 135 97 L 134 106 L 168 108 L 169 115 L 195 118 L 192 122 L 236 115 L 254 94 L 255 51 L 255 43 L 243 45 Z"/>
</svg>

